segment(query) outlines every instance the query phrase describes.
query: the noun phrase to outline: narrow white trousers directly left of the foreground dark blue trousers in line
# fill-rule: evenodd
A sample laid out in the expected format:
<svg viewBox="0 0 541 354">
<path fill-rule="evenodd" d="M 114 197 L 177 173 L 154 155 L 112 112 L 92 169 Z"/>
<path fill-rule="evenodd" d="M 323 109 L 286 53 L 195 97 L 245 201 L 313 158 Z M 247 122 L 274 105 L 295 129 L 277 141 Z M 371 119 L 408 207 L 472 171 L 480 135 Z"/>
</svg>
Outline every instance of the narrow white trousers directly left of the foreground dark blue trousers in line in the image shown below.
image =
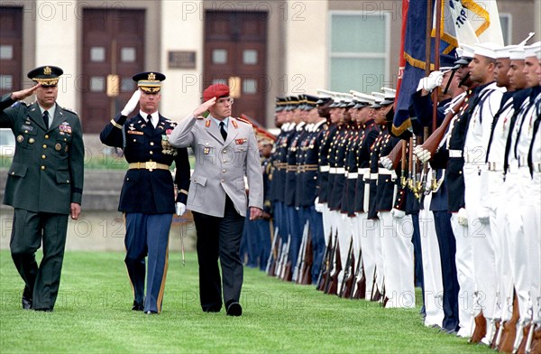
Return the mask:
<svg viewBox="0 0 541 354">
<path fill-rule="evenodd" d="M 423 276 L 425 282 L 425 326 L 441 326 L 444 321 L 444 283 L 442 262 L 437 243 L 434 214 L 429 210 L 432 194 L 425 196 L 424 210 L 419 210 Z"/>
</svg>

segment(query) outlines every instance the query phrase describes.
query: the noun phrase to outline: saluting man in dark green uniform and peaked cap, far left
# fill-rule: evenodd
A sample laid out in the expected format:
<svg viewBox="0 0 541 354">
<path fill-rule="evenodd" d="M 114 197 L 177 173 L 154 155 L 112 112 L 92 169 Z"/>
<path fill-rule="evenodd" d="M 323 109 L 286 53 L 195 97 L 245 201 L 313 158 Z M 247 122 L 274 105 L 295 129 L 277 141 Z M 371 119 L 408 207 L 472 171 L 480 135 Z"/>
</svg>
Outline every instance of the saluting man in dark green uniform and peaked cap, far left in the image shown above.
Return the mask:
<svg viewBox="0 0 541 354">
<path fill-rule="evenodd" d="M 62 73 L 53 66 L 31 70 L 28 78 L 37 85 L 0 99 L 0 127 L 10 128 L 17 141 L 4 204 L 14 207 L 10 247 L 24 281 L 23 309 L 46 312 L 59 292 L 68 215 L 78 219 L 83 192 L 81 124 L 76 113 L 56 103 Z M 21 101 L 34 93 L 36 102 Z"/>
</svg>

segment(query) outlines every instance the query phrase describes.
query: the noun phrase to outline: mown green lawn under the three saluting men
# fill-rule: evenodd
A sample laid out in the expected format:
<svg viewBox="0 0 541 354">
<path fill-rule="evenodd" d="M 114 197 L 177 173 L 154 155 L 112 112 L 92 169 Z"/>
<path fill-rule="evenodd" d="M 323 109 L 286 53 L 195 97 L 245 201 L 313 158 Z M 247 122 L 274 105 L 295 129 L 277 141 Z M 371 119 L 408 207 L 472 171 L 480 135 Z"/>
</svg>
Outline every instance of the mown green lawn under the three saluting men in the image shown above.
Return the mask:
<svg viewBox="0 0 541 354">
<path fill-rule="evenodd" d="M 170 255 L 160 315 L 131 311 L 124 254 L 68 252 L 50 313 L 21 310 L 23 283 L 0 251 L 0 352 L 492 352 L 423 326 L 418 308 L 382 309 L 245 270 L 243 316 L 201 312 L 197 258 Z"/>
</svg>

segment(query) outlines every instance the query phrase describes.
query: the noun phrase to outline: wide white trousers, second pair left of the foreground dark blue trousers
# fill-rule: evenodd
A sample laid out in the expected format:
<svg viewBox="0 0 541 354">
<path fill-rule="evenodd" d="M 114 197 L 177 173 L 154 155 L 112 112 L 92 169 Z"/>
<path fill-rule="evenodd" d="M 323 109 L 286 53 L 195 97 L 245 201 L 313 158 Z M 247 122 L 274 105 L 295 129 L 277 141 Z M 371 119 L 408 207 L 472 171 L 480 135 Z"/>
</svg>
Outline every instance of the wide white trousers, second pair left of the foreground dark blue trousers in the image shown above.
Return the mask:
<svg viewBox="0 0 541 354">
<path fill-rule="evenodd" d="M 385 295 L 389 299 L 385 307 L 415 307 L 411 215 L 394 219 L 390 211 L 381 211 L 380 218 Z"/>
</svg>

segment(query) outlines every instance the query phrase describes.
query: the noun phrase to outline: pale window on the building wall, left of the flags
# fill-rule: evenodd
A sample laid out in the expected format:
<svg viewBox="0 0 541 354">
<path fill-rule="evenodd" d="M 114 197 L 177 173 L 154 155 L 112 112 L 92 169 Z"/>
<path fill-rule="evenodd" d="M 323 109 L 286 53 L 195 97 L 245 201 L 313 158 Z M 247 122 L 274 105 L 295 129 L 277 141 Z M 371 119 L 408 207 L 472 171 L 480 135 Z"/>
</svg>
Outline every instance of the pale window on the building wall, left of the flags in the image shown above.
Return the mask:
<svg viewBox="0 0 541 354">
<path fill-rule="evenodd" d="M 389 14 L 331 13 L 330 89 L 379 91 L 389 72 Z"/>
</svg>

